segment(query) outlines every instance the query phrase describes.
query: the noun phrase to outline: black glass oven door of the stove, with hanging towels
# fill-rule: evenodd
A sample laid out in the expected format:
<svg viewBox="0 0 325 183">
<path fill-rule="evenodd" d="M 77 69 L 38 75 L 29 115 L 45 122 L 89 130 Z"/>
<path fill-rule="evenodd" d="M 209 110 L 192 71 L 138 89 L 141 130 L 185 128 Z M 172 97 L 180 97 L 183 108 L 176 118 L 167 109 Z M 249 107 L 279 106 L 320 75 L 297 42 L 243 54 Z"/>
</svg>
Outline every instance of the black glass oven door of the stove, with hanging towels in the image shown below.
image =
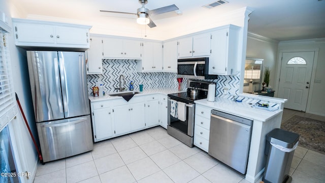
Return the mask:
<svg viewBox="0 0 325 183">
<path fill-rule="evenodd" d="M 171 113 L 171 98 L 168 98 L 168 128 L 173 128 L 180 133 L 183 133 L 189 137 L 194 135 L 194 103 L 184 103 L 185 104 L 185 120 L 179 119 L 178 116 L 173 116 Z M 174 100 L 179 102 L 177 100 Z"/>
</svg>

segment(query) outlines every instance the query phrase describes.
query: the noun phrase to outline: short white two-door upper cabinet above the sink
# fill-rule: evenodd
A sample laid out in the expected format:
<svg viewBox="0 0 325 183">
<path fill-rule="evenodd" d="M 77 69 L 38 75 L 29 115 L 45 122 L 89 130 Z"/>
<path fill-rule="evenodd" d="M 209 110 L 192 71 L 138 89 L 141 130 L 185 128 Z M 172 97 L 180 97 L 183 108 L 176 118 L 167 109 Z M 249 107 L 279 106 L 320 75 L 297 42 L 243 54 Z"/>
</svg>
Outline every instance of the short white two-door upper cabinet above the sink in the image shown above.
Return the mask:
<svg viewBox="0 0 325 183">
<path fill-rule="evenodd" d="M 140 59 L 141 42 L 121 38 L 103 38 L 103 56 L 106 58 Z"/>
</svg>

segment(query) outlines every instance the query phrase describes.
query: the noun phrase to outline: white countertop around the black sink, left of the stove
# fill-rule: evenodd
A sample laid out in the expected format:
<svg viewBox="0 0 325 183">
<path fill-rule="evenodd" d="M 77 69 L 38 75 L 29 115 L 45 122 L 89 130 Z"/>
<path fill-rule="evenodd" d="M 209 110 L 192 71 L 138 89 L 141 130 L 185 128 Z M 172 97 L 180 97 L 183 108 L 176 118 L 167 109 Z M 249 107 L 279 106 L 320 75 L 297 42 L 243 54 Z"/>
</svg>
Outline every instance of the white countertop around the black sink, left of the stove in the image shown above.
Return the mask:
<svg viewBox="0 0 325 183">
<path fill-rule="evenodd" d="M 179 91 L 176 88 L 170 88 L 170 87 L 158 87 L 158 88 L 144 88 L 143 92 L 140 92 L 139 90 L 133 90 L 133 91 L 124 91 L 124 92 L 111 92 L 111 93 L 106 93 L 104 97 L 93 97 L 89 96 L 90 102 L 95 102 L 95 101 L 104 101 L 104 100 L 113 100 L 113 99 L 120 99 L 122 97 L 117 97 L 117 96 L 109 96 L 110 94 L 117 94 L 117 93 L 127 93 L 127 92 L 139 92 L 139 94 L 136 94 L 135 96 L 145 96 L 145 95 L 152 95 L 152 94 L 163 94 L 163 95 L 168 95 L 168 94 L 175 94 L 175 93 L 181 93 L 185 92 L 185 90 Z"/>
</svg>

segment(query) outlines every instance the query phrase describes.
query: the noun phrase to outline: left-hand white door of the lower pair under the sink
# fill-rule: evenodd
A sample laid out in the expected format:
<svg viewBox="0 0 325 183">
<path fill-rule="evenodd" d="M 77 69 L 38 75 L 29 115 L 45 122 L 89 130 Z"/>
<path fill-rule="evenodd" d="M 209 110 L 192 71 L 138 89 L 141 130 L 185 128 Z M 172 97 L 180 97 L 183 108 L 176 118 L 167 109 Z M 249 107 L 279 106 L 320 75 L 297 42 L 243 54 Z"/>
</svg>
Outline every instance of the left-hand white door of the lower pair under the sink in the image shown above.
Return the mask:
<svg viewBox="0 0 325 183">
<path fill-rule="evenodd" d="M 131 131 L 129 105 L 114 107 L 115 135 L 125 134 Z"/>
</svg>

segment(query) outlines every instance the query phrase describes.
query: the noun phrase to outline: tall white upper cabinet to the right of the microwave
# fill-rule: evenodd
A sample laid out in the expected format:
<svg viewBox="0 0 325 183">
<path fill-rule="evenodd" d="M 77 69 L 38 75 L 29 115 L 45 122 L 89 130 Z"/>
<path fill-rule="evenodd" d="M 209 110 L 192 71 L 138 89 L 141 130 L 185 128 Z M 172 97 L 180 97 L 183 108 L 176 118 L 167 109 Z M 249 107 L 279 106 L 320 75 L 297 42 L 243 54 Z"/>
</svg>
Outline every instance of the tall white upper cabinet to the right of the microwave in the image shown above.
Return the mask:
<svg viewBox="0 0 325 183">
<path fill-rule="evenodd" d="M 222 26 L 212 32 L 209 74 L 233 75 L 239 59 L 239 32 L 236 25 Z"/>
</svg>

